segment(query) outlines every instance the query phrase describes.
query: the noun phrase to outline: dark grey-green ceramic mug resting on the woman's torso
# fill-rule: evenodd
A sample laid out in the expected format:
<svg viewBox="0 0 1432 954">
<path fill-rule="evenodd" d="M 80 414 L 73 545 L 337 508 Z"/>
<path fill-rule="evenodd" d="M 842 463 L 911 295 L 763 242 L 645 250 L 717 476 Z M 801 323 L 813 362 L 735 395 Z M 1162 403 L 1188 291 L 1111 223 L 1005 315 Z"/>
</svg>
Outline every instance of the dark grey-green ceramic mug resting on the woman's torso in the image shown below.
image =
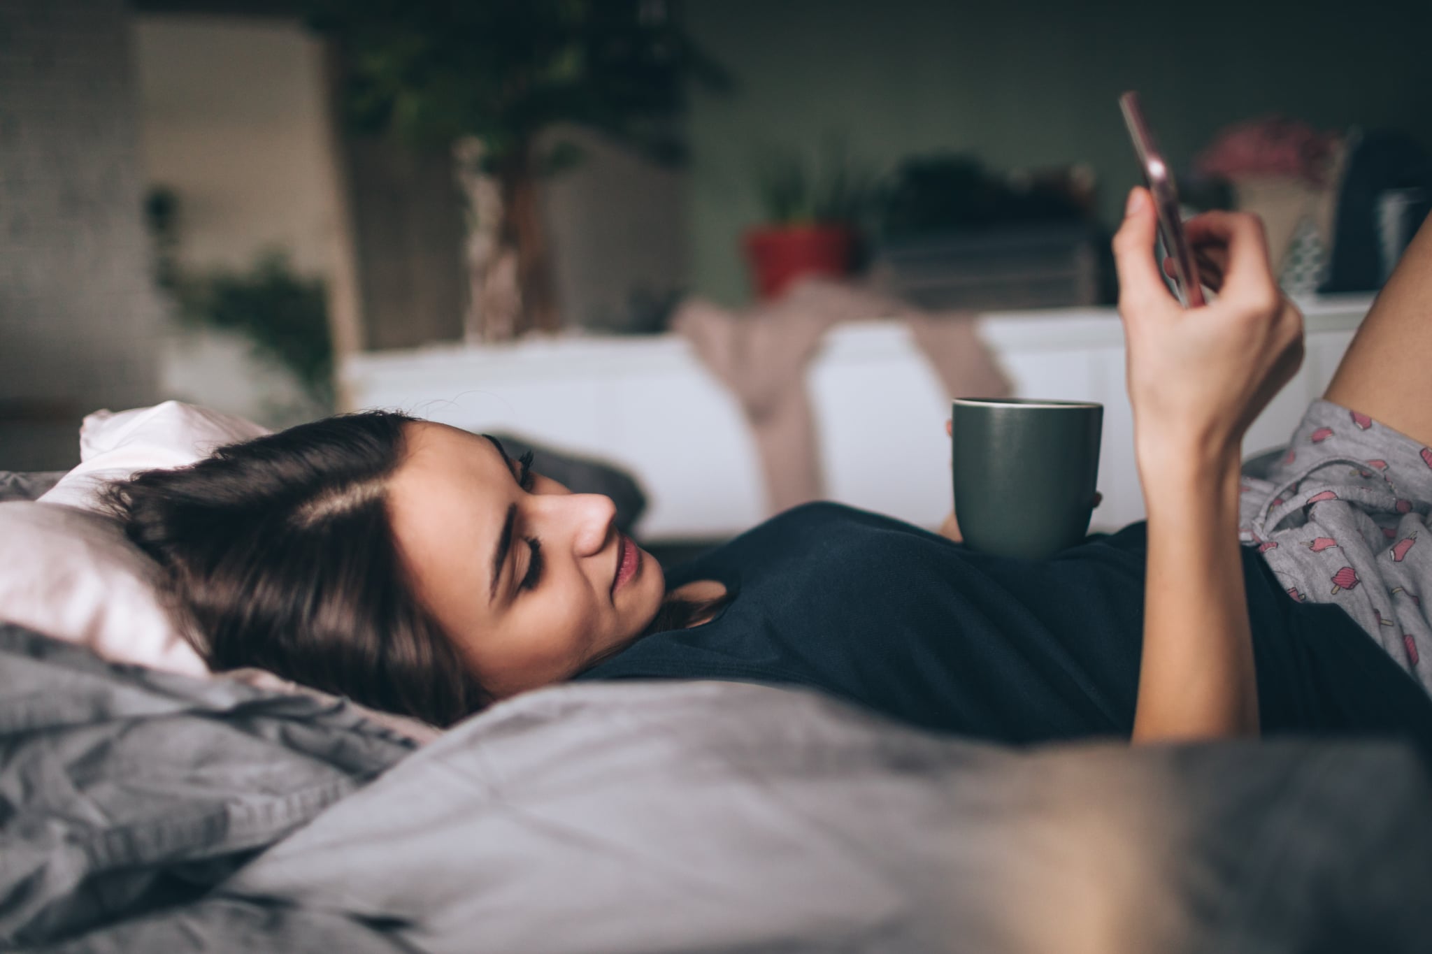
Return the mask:
<svg viewBox="0 0 1432 954">
<path fill-rule="evenodd" d="M 955 519 L 985 554 L 1042 559 L 1088 533 L 1104 405 L 957 398 Z"/>
</svg>

